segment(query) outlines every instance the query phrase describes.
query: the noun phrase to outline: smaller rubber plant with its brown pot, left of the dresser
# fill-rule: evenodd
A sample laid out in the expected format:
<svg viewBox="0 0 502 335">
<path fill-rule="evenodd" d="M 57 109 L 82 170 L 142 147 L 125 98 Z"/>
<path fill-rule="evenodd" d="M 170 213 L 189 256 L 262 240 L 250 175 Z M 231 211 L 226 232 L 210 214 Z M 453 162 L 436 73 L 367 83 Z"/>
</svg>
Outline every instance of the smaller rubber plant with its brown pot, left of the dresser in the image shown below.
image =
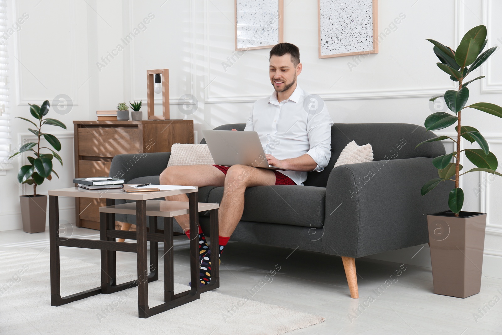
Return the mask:
<svg viewBox="0 0 502 335">
<path fill-rule="evenodd" d="M 23 152 L 33 152 L 33 156 L 27 157 L 30 164 L 23 165 L 18 173 L 18 180 L 21 184 L 33 185 L 33 195 L 20 196 L 23 230 L 26 233 L 45 232 L 47 195 L 37 194 L 37 186 L 41 185 L 45 179 L 50 181 L 53 174 L 59 178 L 56 171 L 52 169 L 53 158 L 56 158 L 59 163 L 61 163 L 61 166 L 63 166 L 63 160 L 56 152 L 61 150 L 61 143 L 54 135 L 42 132 L 42 126 L 45 125 L 66 129 L 66 126 L 61 121 L 44 118 L 44 116 L 49 113 L 49 107 L 48 100 L 45 100 L 41 106 L 30 104 L 30 113 L 36 119 L 36 123 L 25 118 L 17 117 L 35 126 L 35 129 L 28 128 L 28 130 L 37 136 L 37 142 L 24 144 L 18 152 L 9 157 L 12 158 Z M 54 148 L 54 150 L 40 143 L 42 137 L 52 148 Z M 50 151 L 50 153 L 42 153 L 42 149 L 46 149 Z"/>
</svg>

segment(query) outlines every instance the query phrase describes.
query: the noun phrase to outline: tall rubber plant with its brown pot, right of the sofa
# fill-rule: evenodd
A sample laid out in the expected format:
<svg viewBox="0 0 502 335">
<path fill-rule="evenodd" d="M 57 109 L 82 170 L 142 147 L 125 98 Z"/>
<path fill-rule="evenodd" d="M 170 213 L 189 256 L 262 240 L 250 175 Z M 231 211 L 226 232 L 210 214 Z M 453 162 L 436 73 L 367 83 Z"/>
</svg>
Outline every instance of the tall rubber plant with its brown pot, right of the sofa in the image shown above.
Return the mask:
<svg viewBox="0 0 502 335">
<path fill-rule="evenodd" d="M 434 53 L 441 61 L 437 66 L 451 80 L 458 82 L 457 90 L 448 90 L 430 99 L 434 101 L 444 97 L 453 114 L 434 113 L 425 120 L 425 128 L 431 131 L 456 125 L 456 136 L 438 136 L 419 144 L 450 139 L 456 146 L 456 151 L 432 160 L 432 164 L 438 169 L 439 178 L 428 181 L 421 190 L 422 195 L 425 195 L 442 182 L 451 182 L 453 186 L 448 197 L 450 210 L 427 215 L 434 293 L 465 298 L 480 291 L 486 213 L 462 211 L 464 192 L 459 187 L 459 179 L 470 172 L 502 176 L 495 171 L 497 158 L 489 151 L 484 137 L 476 128 L 461 124 L 461 114 L 466 108 L 502 118 L 502 107 L 488 102 L 467 104 L 467 86 L 484 76 L 469 81 L 465 81 L 465 78 L 483 64 L 496 47 L 483 52 L 487 40 L 486 27 L 482 25 L 469 30 L 456 50 L 431 39 L 428 41 L 434 45 Z M 461 149 L 461 138 L 471 144 L 476 142 L 480 149 Z M 462 154 L 476 167 L 464 172 L 460 164 Z"/>
</svg>

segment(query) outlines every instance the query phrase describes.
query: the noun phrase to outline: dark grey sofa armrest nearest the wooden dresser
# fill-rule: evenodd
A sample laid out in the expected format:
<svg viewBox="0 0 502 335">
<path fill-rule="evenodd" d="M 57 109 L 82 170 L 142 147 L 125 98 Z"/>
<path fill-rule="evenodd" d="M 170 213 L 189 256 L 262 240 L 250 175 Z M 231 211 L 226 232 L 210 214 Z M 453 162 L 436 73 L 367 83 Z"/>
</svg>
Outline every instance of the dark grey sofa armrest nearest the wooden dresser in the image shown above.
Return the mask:
<svg viewBox="0 0 502 335">
<path fill-rule="evenodd" d="M 134 178 L 158 176 L 166 168 L 170 156 L 170 152 L 117 155 L 111 160 L 109 176 L 123 178 L 126 183 Z"/>
</svg>

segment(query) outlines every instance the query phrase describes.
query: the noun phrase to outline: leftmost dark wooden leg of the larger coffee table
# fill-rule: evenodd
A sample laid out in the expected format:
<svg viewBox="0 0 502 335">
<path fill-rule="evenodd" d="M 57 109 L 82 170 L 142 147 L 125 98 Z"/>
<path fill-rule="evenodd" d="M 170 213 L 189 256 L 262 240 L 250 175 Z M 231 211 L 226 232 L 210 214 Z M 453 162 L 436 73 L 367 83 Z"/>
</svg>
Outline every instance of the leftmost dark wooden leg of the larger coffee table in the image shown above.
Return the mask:
<svg viewBox="0 0 502 335">
<path fill-rule="evenodd" d="M 61 277 L 59 272 L 59 197 L 49 195 L 49 242 L 51 262 L 51 306 L 59 306 L 61 300 Z"/>
</svg>

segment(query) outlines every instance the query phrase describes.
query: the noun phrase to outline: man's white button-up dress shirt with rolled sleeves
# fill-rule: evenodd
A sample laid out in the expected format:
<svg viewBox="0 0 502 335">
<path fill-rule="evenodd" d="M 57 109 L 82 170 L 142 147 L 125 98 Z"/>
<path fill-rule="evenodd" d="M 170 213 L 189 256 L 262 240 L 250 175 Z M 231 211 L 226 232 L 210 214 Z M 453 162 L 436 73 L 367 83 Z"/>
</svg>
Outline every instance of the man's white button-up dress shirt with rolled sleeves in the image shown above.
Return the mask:
<svg viewBox="0 0 502 335">
<path fill-rule="evenodd" d="M 297 85 L 289 99 L 279 102 L 274 91 L 270 97 L 255 102 L 244 131 L 258 133 L 266 154 L 279 160 L 308 154 L 317 163 L 314 171 L 322 171 L 331 156 L 333 121 L 320 97 L 316 96 L 317 101 L 312 100 L 316 103 L 314 108 L 318 109 L 309 109 L 311 97 Z M 279 172 L 297 185 L 303 185 L 307 179 L 305 171 Z"/>
</svg>

